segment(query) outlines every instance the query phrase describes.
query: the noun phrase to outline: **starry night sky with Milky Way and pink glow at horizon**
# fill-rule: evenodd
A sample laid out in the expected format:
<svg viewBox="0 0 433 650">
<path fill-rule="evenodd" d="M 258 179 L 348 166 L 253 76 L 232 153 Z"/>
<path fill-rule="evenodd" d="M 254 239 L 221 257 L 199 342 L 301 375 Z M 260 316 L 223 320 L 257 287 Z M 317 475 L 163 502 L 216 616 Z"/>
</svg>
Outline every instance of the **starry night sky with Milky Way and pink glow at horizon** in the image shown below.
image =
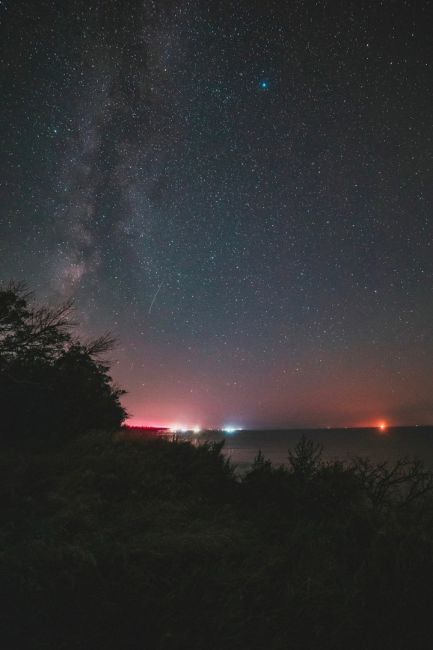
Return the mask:
<svg viewBox="0 0 433 650">
<path fill-rule="evenodd" d="M 133 424 L 433 422 L 433 7 L 2 0 L 0 278 Z"/>
</svg>

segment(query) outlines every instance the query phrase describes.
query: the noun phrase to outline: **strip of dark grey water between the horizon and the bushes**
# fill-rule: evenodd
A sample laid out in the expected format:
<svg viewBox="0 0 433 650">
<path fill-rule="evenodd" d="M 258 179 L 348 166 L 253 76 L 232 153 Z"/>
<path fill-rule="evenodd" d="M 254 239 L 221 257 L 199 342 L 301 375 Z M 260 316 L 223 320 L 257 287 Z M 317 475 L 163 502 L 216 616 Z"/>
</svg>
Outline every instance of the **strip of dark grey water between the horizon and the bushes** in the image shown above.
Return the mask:
<svg viewBox="0 0 433 650">
<path fill-rule="evenodd" d="M 356 456 L 369 457 L 374 462 L 394 462 L 399 458 L 418 458 L 433 470 L 433 426 L 379 429 L 302 429 L 271 431 L 237 431 L 223 433 L 206 431 L 200 434 L 179 434 L 200 444 L 225 441 L 224 453 L 239 469 L 250 465 L 259 449 L 276 465 L 287 462 L 289 448 L 304 435 L 323 446 L 322 458 L 349 461 Z"/>
</svg>

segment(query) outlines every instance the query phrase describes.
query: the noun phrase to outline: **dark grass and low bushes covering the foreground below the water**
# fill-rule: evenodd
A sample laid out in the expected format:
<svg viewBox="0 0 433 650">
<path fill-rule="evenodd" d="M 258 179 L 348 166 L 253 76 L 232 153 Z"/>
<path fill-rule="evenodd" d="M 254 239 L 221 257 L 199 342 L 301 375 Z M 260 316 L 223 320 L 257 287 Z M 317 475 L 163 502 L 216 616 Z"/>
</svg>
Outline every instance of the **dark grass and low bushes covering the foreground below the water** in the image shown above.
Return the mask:
<svg viewBox="0 0 433 650">
<path fill-rule="evenodd" d="M 4 646 L 431 647 L 431 477 L 110 440 L 4 450 Z M 380 496 L 379 496 L 380 495 Z"/>
</svg>

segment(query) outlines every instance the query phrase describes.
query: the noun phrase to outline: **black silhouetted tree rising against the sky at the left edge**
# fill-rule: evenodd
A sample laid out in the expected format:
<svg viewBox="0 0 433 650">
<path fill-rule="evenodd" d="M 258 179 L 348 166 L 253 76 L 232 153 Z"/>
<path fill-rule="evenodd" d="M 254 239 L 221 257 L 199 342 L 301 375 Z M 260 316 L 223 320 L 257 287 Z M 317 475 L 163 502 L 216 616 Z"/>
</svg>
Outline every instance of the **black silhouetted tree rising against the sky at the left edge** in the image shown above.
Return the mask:
<svg viewBox="0 0 433 650">
<path fill-rule="evenodd" d="M 126 412 L 101 355 L 115 341 L 73 336 L 72 303 L 35 307 L 22 284 L 0 287 L 0 430 L 61 437 L 116 428 Z"/>
</svg>

